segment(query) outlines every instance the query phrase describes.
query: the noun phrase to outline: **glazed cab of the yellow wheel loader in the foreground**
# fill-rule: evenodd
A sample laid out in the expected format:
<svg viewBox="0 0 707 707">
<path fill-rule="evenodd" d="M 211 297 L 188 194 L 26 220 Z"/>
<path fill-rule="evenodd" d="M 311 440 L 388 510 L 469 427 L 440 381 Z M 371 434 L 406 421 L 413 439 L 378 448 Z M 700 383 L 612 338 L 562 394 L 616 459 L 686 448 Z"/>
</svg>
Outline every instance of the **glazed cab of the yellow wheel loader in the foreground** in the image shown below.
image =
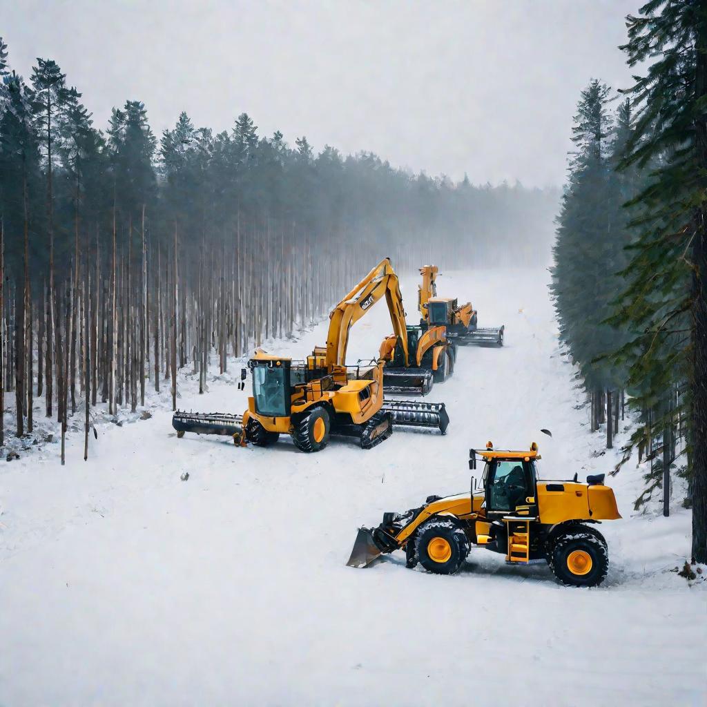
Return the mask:
<svg viewBox="0 0 707 707">
<path fill-rule="evenodd" d="M 486 513 L 535 515 L 535 464 L 525 458 L 493 459 L 484 467 Z"/>
</svg>

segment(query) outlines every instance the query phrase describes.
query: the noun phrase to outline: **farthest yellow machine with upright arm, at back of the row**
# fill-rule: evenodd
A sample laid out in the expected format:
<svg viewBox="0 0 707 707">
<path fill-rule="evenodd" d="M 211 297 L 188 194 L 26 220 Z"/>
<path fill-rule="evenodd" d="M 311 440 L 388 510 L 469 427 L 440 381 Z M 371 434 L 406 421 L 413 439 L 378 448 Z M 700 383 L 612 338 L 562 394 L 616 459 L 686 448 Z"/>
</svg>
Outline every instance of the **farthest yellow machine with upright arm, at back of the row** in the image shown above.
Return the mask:
<svg viewBox="0 0 707 707">
<path fill-rule="evenodd" d="M 479 327 L 477 310 L 467 302 L 460 305 L 457 298 L 438 297 L 436 265 L 420 268 L 422 284 L 418 287 L 418 309 L 422 315 L 420 326 L 446 326 L 447 338 L 454 344 L 477 344 L 479 346 L 503 346 L 505 326 Z"/>
</svg>

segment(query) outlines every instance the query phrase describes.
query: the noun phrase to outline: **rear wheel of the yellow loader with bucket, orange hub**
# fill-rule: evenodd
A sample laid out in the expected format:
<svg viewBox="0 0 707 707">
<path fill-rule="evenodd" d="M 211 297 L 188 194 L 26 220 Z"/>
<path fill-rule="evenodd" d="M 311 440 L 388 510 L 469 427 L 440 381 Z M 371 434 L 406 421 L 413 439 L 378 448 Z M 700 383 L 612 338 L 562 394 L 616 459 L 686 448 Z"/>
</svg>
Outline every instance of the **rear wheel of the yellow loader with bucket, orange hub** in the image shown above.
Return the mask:
<svg viewBox="0 0 707 707">
<path fill-rule="evenodd" d="M 585 566 L 585 561 L 580 566 L 576 561 L 573 563 L 575 553 L 580 554 L 580 558 L 588 556 L 590 565 Z M 548 557 L 556 578 L 571 587 L 596 587 L 609 571 L 607 541 L 598 530 L 585 525 L 575 525 L 556 535 Z"/>
</svg>

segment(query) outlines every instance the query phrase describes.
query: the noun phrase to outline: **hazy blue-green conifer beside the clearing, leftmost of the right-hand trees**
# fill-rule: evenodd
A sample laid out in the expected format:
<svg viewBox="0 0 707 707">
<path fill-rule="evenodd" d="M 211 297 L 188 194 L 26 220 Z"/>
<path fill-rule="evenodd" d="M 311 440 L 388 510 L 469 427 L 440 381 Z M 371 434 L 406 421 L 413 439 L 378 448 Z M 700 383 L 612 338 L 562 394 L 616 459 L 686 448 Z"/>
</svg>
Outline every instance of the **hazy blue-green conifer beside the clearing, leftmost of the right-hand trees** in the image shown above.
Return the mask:
<svg viewBox="0 0 707 707">
<path fill-rule="evenodd" d="M 602 401 L 607 400 L 610 448 L 612 395 L 621 387 L 623 376 L 605 355 L 622 343 L 622 334 L 604 320 L 609 303 L 619 292 L 617 271 L 630 239 L 625 218 L 619 218 L 624 199 L 614 177 L 617 144 L 624 139 L 624 122 L 630 121 L 630 112 L 626 106 L 619 110 L 615 132 L 607 107 L 609 95 L 609 88 L 594 80 L 578 103 L 573 127 L 575 151 L 558 219 L 551 291 L 561 339 L 590 392 L 592 429 L 599 426 Z"/>
</svg>

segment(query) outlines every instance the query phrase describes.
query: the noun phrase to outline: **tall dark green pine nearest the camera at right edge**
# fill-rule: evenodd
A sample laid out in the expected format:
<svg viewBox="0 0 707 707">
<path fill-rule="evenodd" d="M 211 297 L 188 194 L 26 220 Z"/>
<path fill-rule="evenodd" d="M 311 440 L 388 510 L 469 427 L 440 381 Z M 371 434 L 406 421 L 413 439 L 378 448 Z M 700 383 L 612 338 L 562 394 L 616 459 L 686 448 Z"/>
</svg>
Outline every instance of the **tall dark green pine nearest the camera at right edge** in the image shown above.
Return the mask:
<svg viewBox="0 0 707 707">
<path fill-rule="evenodd" d="M 627 23 L 629 65 L 649 66 L 628 92 L 637 112 L 623 166 L 657 165 L 635 199 L 641 235 L 616 321 L 638 332 L 621 351 L 631 380 L 657 399 L 689 384 L 692 555 L 707 562 L 707 7 L 651 0 Z"/>
</svg>

